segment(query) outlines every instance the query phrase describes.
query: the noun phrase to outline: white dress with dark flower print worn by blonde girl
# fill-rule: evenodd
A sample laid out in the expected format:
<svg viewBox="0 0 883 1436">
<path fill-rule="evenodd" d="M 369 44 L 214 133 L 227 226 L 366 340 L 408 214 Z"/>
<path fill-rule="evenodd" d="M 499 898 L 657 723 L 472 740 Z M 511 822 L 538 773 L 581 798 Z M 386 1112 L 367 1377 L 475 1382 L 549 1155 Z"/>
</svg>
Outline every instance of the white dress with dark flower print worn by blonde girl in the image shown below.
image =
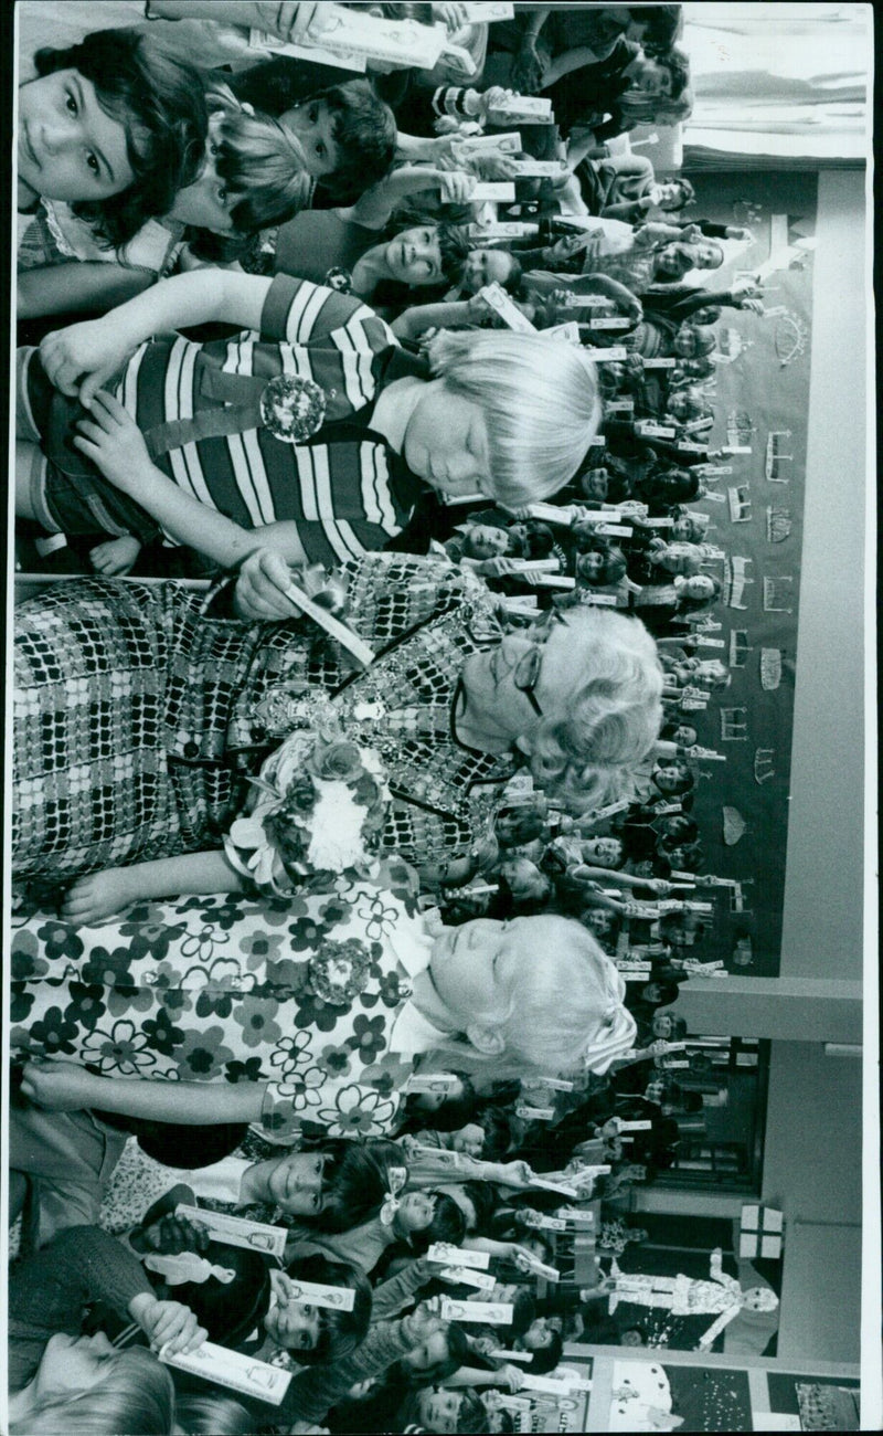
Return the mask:
<svg viewBox="0 0 883 1436">
<path fill-rule="evenodd" d="M 395 862 L 309 898 L 185 898 L 92 928 L 42 913 L 13 935 L 10 1045 L 112 1078 L 266 1083 L 277 1142 L 303 1120 L 382 1136 L 412 1070 L 389 1051 L 411 991 L 396 945 L 422 936 Z M 329 997 L 342 961 L 356 978 Z"/>
</svg>

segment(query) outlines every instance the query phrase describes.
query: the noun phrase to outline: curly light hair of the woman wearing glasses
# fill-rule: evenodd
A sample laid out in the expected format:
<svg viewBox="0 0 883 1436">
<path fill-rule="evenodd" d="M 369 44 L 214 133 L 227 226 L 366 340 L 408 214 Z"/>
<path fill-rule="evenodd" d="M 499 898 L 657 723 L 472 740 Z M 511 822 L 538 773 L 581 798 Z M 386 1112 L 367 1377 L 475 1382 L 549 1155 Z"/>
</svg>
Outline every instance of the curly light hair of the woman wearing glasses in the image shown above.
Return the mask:
<svg viewBox="0 0 883 1436">
<path fill-rule="evenodd" d="M 567 609 L 576 685 L 530 735 L 530 768 L 547 797 L 586 813 L 627 796 L 662 727 L 662 665 L 639 619 Z M 580 682 L 581 679 L 581 682 Z"/>
</svg>

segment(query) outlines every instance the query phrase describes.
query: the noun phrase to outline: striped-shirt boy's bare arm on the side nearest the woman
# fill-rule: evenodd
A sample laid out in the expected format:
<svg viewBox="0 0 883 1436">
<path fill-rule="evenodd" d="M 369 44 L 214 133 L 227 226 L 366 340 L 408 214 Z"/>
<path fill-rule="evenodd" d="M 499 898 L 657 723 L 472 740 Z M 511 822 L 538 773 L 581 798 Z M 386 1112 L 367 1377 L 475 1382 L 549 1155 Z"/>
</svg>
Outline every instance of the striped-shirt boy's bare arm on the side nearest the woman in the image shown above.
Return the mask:
<svg viewBox="0 0 883 1436">
<path fill-rule="evenodd" d="M 82 419 L 73 439 L 105 478 L 146 508 L 178 543 L 197 549 L 224 569 L 235 569 L 254 549 L 273 549 L 287 563 L 307 563 L 297 524 L 274 523 L 260 528 L 215 513 L 184 493 L 155 464 L 141 429 L 122 404 L 103 389 L 95 395 L 90 419 Z"/>
</svg>

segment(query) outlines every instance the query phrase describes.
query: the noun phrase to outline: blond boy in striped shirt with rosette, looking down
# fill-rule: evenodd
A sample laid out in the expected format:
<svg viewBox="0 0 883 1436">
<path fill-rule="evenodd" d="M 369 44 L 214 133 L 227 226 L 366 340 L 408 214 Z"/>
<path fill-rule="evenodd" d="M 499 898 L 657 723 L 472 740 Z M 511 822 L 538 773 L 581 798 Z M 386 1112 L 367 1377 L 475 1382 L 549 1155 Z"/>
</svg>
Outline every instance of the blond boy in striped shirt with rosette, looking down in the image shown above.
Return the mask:
<svg viewBox="0 0 883 1436">
<path fill-rule="evenodd" d="M 145 343 L 211 319 L 264 337 Z M 162 530 L 224 567 L 254 547 L 254 528 L 293 563 L 383 547 L 418 481 L 544 497 L 600 419 L 594 366 L 576 346 L 444 333 L 426 366 L 356 300 L 286 276 L 167 280 L 49 336 L 39 359 L 22 350 L 20 369 L 19 514 L 50 533 L 93 531 L 96 514 L 111 533 Z M 115 393 L 96 396 L 108 381 Z"/>
</svg>

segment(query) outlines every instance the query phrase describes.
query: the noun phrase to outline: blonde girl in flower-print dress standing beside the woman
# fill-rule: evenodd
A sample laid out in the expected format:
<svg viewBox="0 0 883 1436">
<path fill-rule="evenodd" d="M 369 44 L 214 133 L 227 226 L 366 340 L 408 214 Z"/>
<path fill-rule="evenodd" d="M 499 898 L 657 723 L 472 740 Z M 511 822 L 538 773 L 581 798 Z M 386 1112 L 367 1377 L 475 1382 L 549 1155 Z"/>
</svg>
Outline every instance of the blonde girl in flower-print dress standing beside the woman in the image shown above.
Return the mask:
<svg viewBox="0 0 883 1436">
<path fill-rule="evenodd" d="M 126 1032 L 132 1027 L 135 1047 L 119 1048 L 122 1067 L 111 1048 L 103 1048 L 108 1038 L 111 1047 L 115 1043 L 111 1017 L 109 1025 L 99 1020 L 96 1027 L 79 1030 L 66 1021 L 63 1045 L 66 1055 L 90 1061 L 96 1044 L 96 1053 L 103 1053 L 101 1070 L 126 1080 L 95 1076 L 76 1061 L 30 1061 L 24 1096 L 47 1107 L 98 1107 L 197 1126 L 261 1120 L 276 1140 L 290 1140 L 304 1119 L 329 1129 L 329 1136 L 380 1136 L 393 1124 L 399 1091 L 421 1053 L 434 1051 L 442 1068 L 452 1063 L 455 1068 L 520 1076 L 547 1070 L 550 1063 L 554 1070 L 586 1063 L 606 1071 L 632 1047 L 635 1022 L 622 1007 L 625 984 L 576 922 L 554 916 L 477 922 L 431 938 L 425 920 L 414 915 L 408 890 L 396 893 L 366 882 L 355 882 L 346 900 L 329 905 L 327 895 L 320 895 L 297 899 L 297 906 L 304 909 L 304 919 L 297 920 L 306 920 L 306 928 L 293 936 L 303 941 L 309 929 L 310 956 L 286 958 L 280 965 L 257 954 L 263 985 L 254 991 L 251 948 L 263 923 L 254 910 L 246 915 L 244 928 L 234 919 L 223 958 L 225 976 L 218 969 L 212 979 L 208 1031 L 205 1020 L 190 1012 L 190 962 L 182 954 L 167 954 L 168 988 L 152 985 L 155 959 L 149 952 L 142 958 L 126 954 L 126 989 L 139 995 L 136 1007 L 125 999 L 129 1015 L 122 1021 Z M 380 920 L 375 908 L 382 913 L 382 943 L 372 936 L 375 920 Z M 106 926 L 95 931 L 108 941 Z M 316 949 L 319 932 L 323 941 Z M 543 965 L 536 964 L 540 943 L 547 951 Z M 230 962 L 240 946 L 237 978 Z M 89 956 L 83 972 L 89 981 L 95 975 Z M 27 984 L 34 998 L 30 1024 L 14 1030 L 13 1043 L 32 1053 L 57 1053 L 50 1008 L 62 1004 L 73 1018 L 76 992 L 65 992 L 67 978 L 60 979 L 60 988 L 34 978 Z M 224 995 L 230 979 L 233 987 Z M 405 981 L 412 988 L 409 997 L 402 992 Z M 570 995 L 566 1010 L 560 1010 L 561 987 Z M 172 988 L 182 1002 L 174 1004 L 165 1038 Z M 355 1007 L 362 995 L 375 999 L 370 1007 L 380 1004 L 376 1014 L 369 1017 L 362 1004 Z M 336 1001 L 329 1005 L 324 998 Z M 224 1008 L 230 1015 L 223 1015 Z M 138 1032 L 131 1018 L 136 1018 Z M 148 1050 L 156 1040 L 154 1032 L 162 1051 Z M 235 1051 L 246 1061 L 235 1061 Z M 332 1060 L 335 1053 L 339 1055 Z M 225 1081 L 228 1060 L 250 1080 Z M 141 1073 L 171 1080 L 139 1080 Z M 197 1074 L 210 1080 L 192 1081 Z"/>
</svg>

